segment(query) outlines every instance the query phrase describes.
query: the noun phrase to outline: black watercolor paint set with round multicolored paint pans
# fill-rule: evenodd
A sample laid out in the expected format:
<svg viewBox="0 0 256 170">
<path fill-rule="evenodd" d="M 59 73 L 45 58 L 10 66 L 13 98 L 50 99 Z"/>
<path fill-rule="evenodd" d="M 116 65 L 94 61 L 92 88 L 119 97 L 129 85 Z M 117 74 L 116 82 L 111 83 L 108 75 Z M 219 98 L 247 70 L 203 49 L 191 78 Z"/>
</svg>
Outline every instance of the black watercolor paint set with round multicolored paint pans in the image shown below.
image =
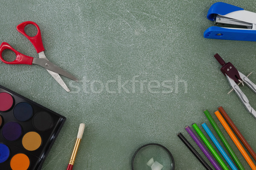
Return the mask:
<svg viewBox="0 0 256 170">
<path fill-rule="evenodd" d="M 0 86 L 0 167 L 40 170 L 66 118 Z"/>
</svg>

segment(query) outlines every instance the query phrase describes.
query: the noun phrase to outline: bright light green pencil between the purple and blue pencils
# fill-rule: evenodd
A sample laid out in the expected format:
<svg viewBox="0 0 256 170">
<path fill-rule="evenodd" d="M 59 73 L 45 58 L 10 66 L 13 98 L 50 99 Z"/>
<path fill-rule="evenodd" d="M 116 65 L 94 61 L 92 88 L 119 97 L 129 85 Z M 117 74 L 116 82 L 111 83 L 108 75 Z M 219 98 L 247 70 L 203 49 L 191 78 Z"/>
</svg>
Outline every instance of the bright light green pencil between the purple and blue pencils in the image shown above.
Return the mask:
<svg viewBox="0 0 256 170">
<path fill-rule="evenodd" d="M 192 125 L 192 127 L 194 127 L 195 131 L 198 133 L 198 135 L 200 136 L 200 138 L 204 141 L 204 144 L 208 147 L 208 149 L 211 151 L 212 155 L 216 158 L 216 160 L 218 161 L 218 163 L 221 165 L 221 167 L 224 170 L 229 170 L 227 168 L 227 166 L 224 164 L 224 162 L 222 161 L 221 157 L 218 155 L 218 153 L 215 151 L 215 149 L 212 147 L 212 145 L 210 144 L 210 142 L 206 139 L 206 137 L 204 136 L 203 132 L 199 129 L 199 127 L 194 124 Z"/>
</svg>

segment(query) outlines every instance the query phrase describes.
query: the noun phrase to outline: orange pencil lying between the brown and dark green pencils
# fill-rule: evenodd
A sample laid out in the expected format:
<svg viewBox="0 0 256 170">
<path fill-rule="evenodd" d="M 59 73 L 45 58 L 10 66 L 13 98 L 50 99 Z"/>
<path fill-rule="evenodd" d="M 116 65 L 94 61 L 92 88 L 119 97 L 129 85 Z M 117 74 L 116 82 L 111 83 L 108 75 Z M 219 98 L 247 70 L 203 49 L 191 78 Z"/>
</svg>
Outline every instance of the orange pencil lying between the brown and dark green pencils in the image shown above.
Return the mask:
<svg viewBox="0 0 256 170">
<path fill-rule="evenodd" d="M 247 163 L 250 165 L 250 167 L 252 168 L 252 170 L 256 170 L 256 166 L 255 164 L 253 164 L 253 161 L 250 159 L 249 155 L 246 153 L 246 151 L 244 150 L 244 147 L 241 145 L 241 143 L 239 142 L 239 140 L 236 138 L 235 134 L 233 133 L 233 131 L 231 130 L 231 128 L 229 127 L 229 125 L 227 125 L 227 122 L 225 121 L 225 119 L 221 116 L 221 113 L 219 111 L 215 111 L 214 112 L 215 115 L 217 116 L 217 118 L 219 119 L 219 121 L 221 122 L 222 126 L 225 128 L 225 130 L 227 131 L 227 133 L 229 134 L 230 138 L 233 140 L 233 142 L 236 144 L 236 147 L 239 149 L 239 151 L 241 152 L 241 154 L 244 156 L 244 159 L 247 161 Z"/>
</svg>

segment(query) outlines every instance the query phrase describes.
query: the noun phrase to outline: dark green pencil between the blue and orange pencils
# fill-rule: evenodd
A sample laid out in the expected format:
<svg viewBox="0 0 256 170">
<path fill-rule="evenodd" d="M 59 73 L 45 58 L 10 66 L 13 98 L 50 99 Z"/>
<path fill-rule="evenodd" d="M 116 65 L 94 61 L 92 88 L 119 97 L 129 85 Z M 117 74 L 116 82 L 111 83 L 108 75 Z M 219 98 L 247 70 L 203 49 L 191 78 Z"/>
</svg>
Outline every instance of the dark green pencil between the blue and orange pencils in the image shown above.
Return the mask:
<svg viewBox="0 0 256 170">
<path fill-rule="evenodd" d="M 218 134 L 218 136 L 220 137 L 221 141 L 223 142 L 223 144 L 225 145 L 225 147 L 227 148 L 227 151 L 230 153 L 231 157 L 233 158 L 233 160 L 236 162 L 236 165 L 239 167 L 240 170 L 244 170 L 244 167 L 242 166 L 241 162 L 239 161 L 239 159 L 237 158 L 236 154 L 234 153 L 234 151 L 232 150 L 232 148 L 230 147 L 230 144 L 227 142 L 226 138 L 224 137 L 224 135 L 221 133 L 221 130 L 219 129 L 218 125 L 215 123 L 215 121 L 212 119 L 212 116 L 210 115 L 209 111 L 205 110 L 204 111 L 205 116 L 207 117 L 207 119 L 209 120 L 209 122 L 212 124 L 212 127 L 214 128 L 215 132 Z"/>
</svg>

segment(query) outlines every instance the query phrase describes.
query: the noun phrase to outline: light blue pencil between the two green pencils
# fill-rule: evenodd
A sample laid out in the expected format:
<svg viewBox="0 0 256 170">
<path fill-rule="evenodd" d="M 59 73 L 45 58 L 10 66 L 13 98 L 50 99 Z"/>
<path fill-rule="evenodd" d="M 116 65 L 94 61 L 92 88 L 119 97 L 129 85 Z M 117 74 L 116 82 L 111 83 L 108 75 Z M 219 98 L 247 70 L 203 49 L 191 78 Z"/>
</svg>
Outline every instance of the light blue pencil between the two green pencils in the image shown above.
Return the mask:
<svg viewBox="0 0 256 170">
<path fill-rule="evenodd" d="M 227 163 L 230 165 L 232 170 L 238 170 L 236 168 L 236 166 L 233 164 L 233 162 L 231 161 L 231 159 L 227 156 L 227 153 L 225 152 L 225 150 L 221 147 L 221 144 L 218 142 L 218 140 L 215 138 L 215 136 L 213 135 L 212 131 L 209 129 L 209 127 L 206 125 L 206 123 L 202 124 L 202 127 L 204 128 L 204 130 L 206 131 L 206 133 L 208 134 L 208 136 L 210 137 L 210 139 L 212 140 L 212 142 L 215 144 L 215 146 L 217 147 L 217 149 L 220 151 L 221 155 L 224 157 L 224 159 L 227 161 Z"/>
</svg>

